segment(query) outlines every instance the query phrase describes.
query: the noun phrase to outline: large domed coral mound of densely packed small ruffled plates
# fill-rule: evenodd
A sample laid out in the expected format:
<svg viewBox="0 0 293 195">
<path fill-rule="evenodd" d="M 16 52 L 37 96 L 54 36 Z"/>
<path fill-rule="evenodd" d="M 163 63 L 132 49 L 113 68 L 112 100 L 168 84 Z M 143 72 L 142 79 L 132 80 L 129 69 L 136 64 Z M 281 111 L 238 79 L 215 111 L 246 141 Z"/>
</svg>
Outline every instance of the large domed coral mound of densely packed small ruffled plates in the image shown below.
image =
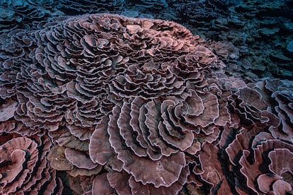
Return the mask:
<svg viewBox="0 0 293 195">
<path fill-rule="evenodd" d="M 176 23 L 107 14 L 52 22 L 11 42 L 2 50 L 0 85 L 2 98 L 18 99 L 14 117 L 49 131 L 65 121 L 81 140 L 89 140 L 121 97 L 179 95 L 186 88 L 183 73 L 200 82 L 197 69 L 220 64 Z M 178 57 L 184 60 L 175 68 Z"/>
</svg>

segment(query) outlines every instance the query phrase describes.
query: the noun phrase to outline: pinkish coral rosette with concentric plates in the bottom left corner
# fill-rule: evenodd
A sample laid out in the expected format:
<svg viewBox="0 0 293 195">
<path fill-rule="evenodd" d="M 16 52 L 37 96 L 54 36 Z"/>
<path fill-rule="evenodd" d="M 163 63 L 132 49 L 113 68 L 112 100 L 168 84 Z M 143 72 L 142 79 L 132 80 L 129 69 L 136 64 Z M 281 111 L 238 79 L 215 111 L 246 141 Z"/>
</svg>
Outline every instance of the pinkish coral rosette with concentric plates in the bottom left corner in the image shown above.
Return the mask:
<svg viewBox="0 0 293 195">
<path fill-rule="evenodd" d="M 46 159 L 52 145 L 47 136 L 2 134 L 1 138 L 8 140 L 0 146 L 2 193 L 61 193 L 61 179 L 57 179 L 55 170 L 48 165 Z"/>
</svg>

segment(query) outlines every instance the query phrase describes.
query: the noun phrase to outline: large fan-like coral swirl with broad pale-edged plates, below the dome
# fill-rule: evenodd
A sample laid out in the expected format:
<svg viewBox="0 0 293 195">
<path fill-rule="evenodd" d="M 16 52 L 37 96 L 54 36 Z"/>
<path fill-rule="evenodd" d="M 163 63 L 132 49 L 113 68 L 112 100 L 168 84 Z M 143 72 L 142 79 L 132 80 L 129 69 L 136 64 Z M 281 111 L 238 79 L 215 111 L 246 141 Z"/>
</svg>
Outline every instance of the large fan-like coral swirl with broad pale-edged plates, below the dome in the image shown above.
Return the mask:
<svg viewBox="0 0 293 195">
<path fill-rule="evenodd" d="M 226 108 L 209 92 L 189 90 L 180 97 L 151 101 L 130 99 L 114 107 L 113 115 L 106 119 L 108 125 L 97 126 L 90 156 L 102 165 L 125 170 L 133 182 L 171 187 L 187 164 L 185 153 L 193 155 L 200 150 L 196 137 L 212 142 L 209 139 L 217 138 L 217 128 L 229 120 Z"/>
</svg>

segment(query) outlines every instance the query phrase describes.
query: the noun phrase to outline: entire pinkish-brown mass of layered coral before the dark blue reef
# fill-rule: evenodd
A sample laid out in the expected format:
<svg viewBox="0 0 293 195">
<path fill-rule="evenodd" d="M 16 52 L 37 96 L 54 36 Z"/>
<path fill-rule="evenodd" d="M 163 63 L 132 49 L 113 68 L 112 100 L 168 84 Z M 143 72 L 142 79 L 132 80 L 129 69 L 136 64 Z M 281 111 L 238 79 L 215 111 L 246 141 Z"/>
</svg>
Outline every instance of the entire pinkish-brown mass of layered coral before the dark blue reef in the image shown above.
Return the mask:
<svg viewBox="0 0 293 195">
<path fill-rule="evenodd" d="M 0 50 L 4 194 L 292 193 L 293 90 L 166 20 L 96 14 Z"/>
</svg>

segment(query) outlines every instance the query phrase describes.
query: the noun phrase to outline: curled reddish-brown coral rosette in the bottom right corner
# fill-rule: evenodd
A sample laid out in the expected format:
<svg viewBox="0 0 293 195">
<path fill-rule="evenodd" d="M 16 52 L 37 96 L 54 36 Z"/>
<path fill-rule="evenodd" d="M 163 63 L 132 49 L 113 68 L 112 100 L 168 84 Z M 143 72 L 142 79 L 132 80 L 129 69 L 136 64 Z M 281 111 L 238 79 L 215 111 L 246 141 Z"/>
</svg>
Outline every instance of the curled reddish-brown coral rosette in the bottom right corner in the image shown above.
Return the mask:
<svg viewBox="0 0 293 195">
<path fill-rule="evenodd" d="M 248 191 L 249 193 L 271 191 L 273 194 L 285 194 L 292 191 L 292 182 L 289 179 L 292 177 L 292 145 L 274 140 L 270 134 L 259 133 L 253 140 L 253 154 L 251 154 L 248 146 L 248 137 L 251 136 L 248 134 L 246 130 L 242 131 L 226 148 L 231 162 L 234 163 L 239 159 L 237 164 L 241 166 L 241 175 L 236 176 L 236 179 L 246 178 L 246 183 L 238 183 L 236 190 L 240 194 Z M 242 147 L 239 144 L 243 144 Z M 243 153 L 240 158 L 237 154 L 239 150 Z M 280 158 L 281 155 L 284 155 L 286 160 L 282 160 L 284 158 Z M 266 159 L 270 159 L 270 164 L 265 162 Z"/>
</svg>

